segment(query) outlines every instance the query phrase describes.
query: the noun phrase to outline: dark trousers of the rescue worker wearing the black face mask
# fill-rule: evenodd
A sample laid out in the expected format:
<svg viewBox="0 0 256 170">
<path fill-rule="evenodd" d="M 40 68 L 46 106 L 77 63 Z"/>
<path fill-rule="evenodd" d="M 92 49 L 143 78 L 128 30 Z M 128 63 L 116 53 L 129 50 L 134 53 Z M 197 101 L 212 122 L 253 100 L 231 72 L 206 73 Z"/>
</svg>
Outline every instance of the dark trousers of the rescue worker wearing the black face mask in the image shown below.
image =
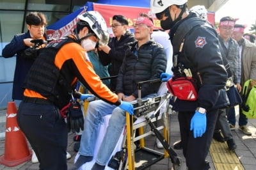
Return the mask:
<svg viewBox="0 0 256 170">
<path fill-rule="evenodd" d="M 179 112 L 180 137 L 183 154 L 189 170 L 209 169 L 209 162 L 205 161 L 212 141 L 212 135 L 218 118 L 218 110 L 213 109 L 206 113 L 207 127 L 202 137 L 194 138 L 190 130 L 191 118 L 195 112 Z"/>
</svg>

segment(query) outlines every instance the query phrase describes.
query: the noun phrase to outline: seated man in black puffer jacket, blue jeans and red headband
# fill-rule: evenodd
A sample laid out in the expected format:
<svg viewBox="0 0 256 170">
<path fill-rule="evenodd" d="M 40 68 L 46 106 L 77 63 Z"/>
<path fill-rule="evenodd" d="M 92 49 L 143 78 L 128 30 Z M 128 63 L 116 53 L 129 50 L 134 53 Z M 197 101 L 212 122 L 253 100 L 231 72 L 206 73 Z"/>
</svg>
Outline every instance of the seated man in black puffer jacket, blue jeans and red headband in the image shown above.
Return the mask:
<svg viewBox="0 0 256 170">
<path fill-rule="evenodd" d="M 145 13 L 140 13 L 134 26 L 136 42 L 125 46 L 125 58 L 118 73 L 116 93 L 122 101 L 132 102 L 138 98 L 137 83 L 158 79 L 166 70 L 164 49 L 158 43 L 150 40 L 153 31 L 152 19 Z M 143 84 L 141 98 L 156 97 L 160 82 Z M 125 127 L 125 111 L 108 104 L 103 100 L 90 102 L 84 120 L 84 131 L 81 137 L 79 157 L 70 169 L 78 169 L 84 163 L 93 159 L 93 151 L 98 135 L 98 127 L 103 116 L 111 114 L 107 132 L 104 135 L 92 169 L 104 169 L 111 153 Z M 130 113 L 130 114 L 133 114 Z"/>
</svg>

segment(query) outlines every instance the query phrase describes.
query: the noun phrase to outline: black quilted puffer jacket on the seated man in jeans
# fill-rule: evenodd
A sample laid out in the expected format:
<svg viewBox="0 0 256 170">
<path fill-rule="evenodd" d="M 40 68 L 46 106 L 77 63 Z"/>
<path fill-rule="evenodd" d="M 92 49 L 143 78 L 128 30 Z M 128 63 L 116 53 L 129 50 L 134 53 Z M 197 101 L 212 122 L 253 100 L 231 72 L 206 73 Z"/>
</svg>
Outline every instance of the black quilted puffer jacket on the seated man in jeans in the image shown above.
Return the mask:
<svg viewBox="0 0 256 170">
<path fill-rule="evenodd" d="M 163 46 L 149 40 L 137 50 L 138 42 L 125 47 L 125 58 L 118 73 L 116 93 L 138 98 L 137 83 L 159 79 L 166 70 L 166 56 Z M 143 84 L 141 97 L 157 93 L 160 83 Z"/>
</svg>

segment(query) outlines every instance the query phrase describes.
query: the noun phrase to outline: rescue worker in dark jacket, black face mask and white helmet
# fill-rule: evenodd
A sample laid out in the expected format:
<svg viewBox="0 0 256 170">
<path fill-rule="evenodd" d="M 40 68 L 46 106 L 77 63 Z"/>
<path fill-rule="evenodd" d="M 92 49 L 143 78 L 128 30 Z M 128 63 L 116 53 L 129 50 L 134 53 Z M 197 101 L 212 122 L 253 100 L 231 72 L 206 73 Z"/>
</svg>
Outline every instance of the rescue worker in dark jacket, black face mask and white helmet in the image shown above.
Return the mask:
<svg viewBox="0 0 256 170">
<path fill-rule="evenodd" d="M 189 13 L 187 2 L 151 0 L 150 8 L 152 13 L 156 13 L 157 19 L 161 20 L 161 27 L 171 30 L 173 77 L 162 73 L 162 81 L 192 77 L 196 83 L 194 87 L 197 93 L 194 94 L 198 97 L 189 98 L 195 101 L 177 98 L 173 104 L 173 110 L 179 112 L 186 166 L 189 170 L 210 169 L 205 158 L 218 118 L 218 108 L 228 105 L 224 89 L 227 72 L 221 59 L 216 31 L 204 19 L 196 17 L 193 12 Z"/>
</svg>

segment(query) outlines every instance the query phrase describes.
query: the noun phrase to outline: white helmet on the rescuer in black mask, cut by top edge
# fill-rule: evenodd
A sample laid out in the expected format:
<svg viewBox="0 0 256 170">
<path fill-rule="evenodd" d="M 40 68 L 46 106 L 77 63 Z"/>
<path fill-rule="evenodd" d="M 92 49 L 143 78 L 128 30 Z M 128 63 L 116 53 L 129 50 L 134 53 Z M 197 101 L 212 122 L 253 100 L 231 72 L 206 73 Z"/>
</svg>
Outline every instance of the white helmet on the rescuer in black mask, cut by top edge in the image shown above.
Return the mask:
<svg viewBox="0 0 256 170">
<path fill-rule="evenodd" d="M 182 5 L 187 2 L 188 0 L 150 0 L 150 10 L 151 13 L 160 13 L 173 4 Z"/>
</svg>

